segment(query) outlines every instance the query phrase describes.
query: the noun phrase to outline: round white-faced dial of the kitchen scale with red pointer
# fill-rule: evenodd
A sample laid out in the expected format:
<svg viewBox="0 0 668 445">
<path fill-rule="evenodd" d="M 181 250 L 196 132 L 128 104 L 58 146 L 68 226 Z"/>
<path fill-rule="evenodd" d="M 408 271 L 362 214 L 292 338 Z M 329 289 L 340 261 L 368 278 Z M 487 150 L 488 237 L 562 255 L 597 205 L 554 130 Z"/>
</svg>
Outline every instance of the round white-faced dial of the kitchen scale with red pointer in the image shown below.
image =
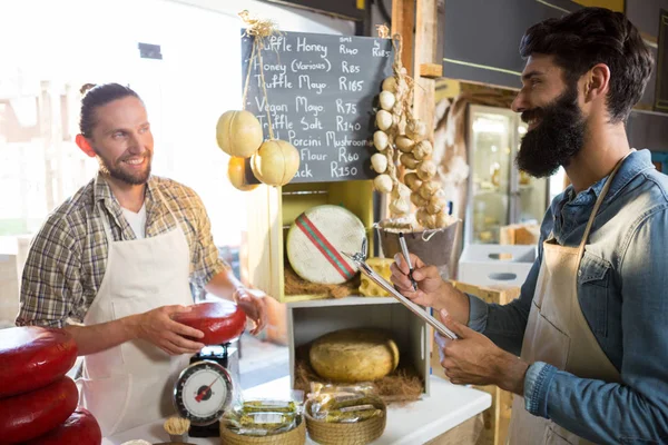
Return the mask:
<svg viewBox="0 0 668 445">
<path fill-rule="evenodd" d="M 190 424 L 219 421 L 232 402 L 232 377 L 215 362 L 197 362 L 185 368 L 174 386 L 174 406 Z"/>
</svg>

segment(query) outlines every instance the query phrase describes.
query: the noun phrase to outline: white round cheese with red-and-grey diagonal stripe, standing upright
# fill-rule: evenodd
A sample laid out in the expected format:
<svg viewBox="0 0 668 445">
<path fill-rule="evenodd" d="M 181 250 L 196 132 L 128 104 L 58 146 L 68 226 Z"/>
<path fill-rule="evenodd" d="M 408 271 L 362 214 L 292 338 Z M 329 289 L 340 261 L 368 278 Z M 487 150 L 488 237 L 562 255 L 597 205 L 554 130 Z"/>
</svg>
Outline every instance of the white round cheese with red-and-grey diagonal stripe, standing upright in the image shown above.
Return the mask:
<svg viewBox="0 0 668 445">
<path fill-rule="evenodd" d="M 287 233 L 287 259 L 307 281 L 337 285 L 353 278 L 357 267 L 341 253 L 357 253 L 364 225 L 340 206 L 313 207 L 295 219 Z"/>
</svg>

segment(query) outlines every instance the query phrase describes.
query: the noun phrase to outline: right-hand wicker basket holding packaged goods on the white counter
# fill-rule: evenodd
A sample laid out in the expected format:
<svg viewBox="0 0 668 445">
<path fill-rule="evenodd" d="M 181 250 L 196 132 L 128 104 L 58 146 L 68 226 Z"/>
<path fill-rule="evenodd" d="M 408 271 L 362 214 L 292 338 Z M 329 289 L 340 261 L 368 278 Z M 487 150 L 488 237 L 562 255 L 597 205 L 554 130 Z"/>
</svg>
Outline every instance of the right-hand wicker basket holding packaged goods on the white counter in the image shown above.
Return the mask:
<svg viewBox="0 0 668 445">
<path fill-rule="evenodd" d="M 304 417 L 306 417 L 306 429 L 308 436 L 322 445 L 364 445 L 383 435 L 387 421 L 387 408 L 381 400 L 374 405 L 383 411 L 380 417 L 356 423 L 327 423 L 317 421 L 311 416 L 311 402 L 306 403 Z"/>
</svg>

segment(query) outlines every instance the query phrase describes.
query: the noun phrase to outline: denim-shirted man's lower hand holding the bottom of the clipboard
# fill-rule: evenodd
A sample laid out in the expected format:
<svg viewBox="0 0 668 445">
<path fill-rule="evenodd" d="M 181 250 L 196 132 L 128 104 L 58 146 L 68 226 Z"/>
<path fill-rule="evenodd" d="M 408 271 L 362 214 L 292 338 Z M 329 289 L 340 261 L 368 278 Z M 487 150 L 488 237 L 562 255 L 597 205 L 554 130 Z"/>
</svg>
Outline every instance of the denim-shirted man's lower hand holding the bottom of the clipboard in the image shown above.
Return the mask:
<svg viewBox="0 0 668 445">
<path fill-rule="evenodd" d="M 452 383 L 497 385 L 523 395 L 529 364 L 499 348 L 484 335 L 455 322 L 446 312 L 441 310 L 440 316 L 459 337 L 451 340 L 436 333 L 441 366 Z"/>
</svg>

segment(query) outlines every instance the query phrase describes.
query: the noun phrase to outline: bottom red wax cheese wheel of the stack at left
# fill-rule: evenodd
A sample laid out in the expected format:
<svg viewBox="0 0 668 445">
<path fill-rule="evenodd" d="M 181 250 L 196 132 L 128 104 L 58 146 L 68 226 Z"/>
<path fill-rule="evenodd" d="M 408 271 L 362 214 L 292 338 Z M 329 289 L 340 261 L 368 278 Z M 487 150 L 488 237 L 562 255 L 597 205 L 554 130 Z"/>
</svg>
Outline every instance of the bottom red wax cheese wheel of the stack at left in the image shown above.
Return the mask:
<svg viewBox="0 0 668 445">
<path fill-rule="evenodd" d="M 100 445 L 102 432 L 88 409 L 79 406 L 60 426 L 24 445 Z"/>
</svg>

